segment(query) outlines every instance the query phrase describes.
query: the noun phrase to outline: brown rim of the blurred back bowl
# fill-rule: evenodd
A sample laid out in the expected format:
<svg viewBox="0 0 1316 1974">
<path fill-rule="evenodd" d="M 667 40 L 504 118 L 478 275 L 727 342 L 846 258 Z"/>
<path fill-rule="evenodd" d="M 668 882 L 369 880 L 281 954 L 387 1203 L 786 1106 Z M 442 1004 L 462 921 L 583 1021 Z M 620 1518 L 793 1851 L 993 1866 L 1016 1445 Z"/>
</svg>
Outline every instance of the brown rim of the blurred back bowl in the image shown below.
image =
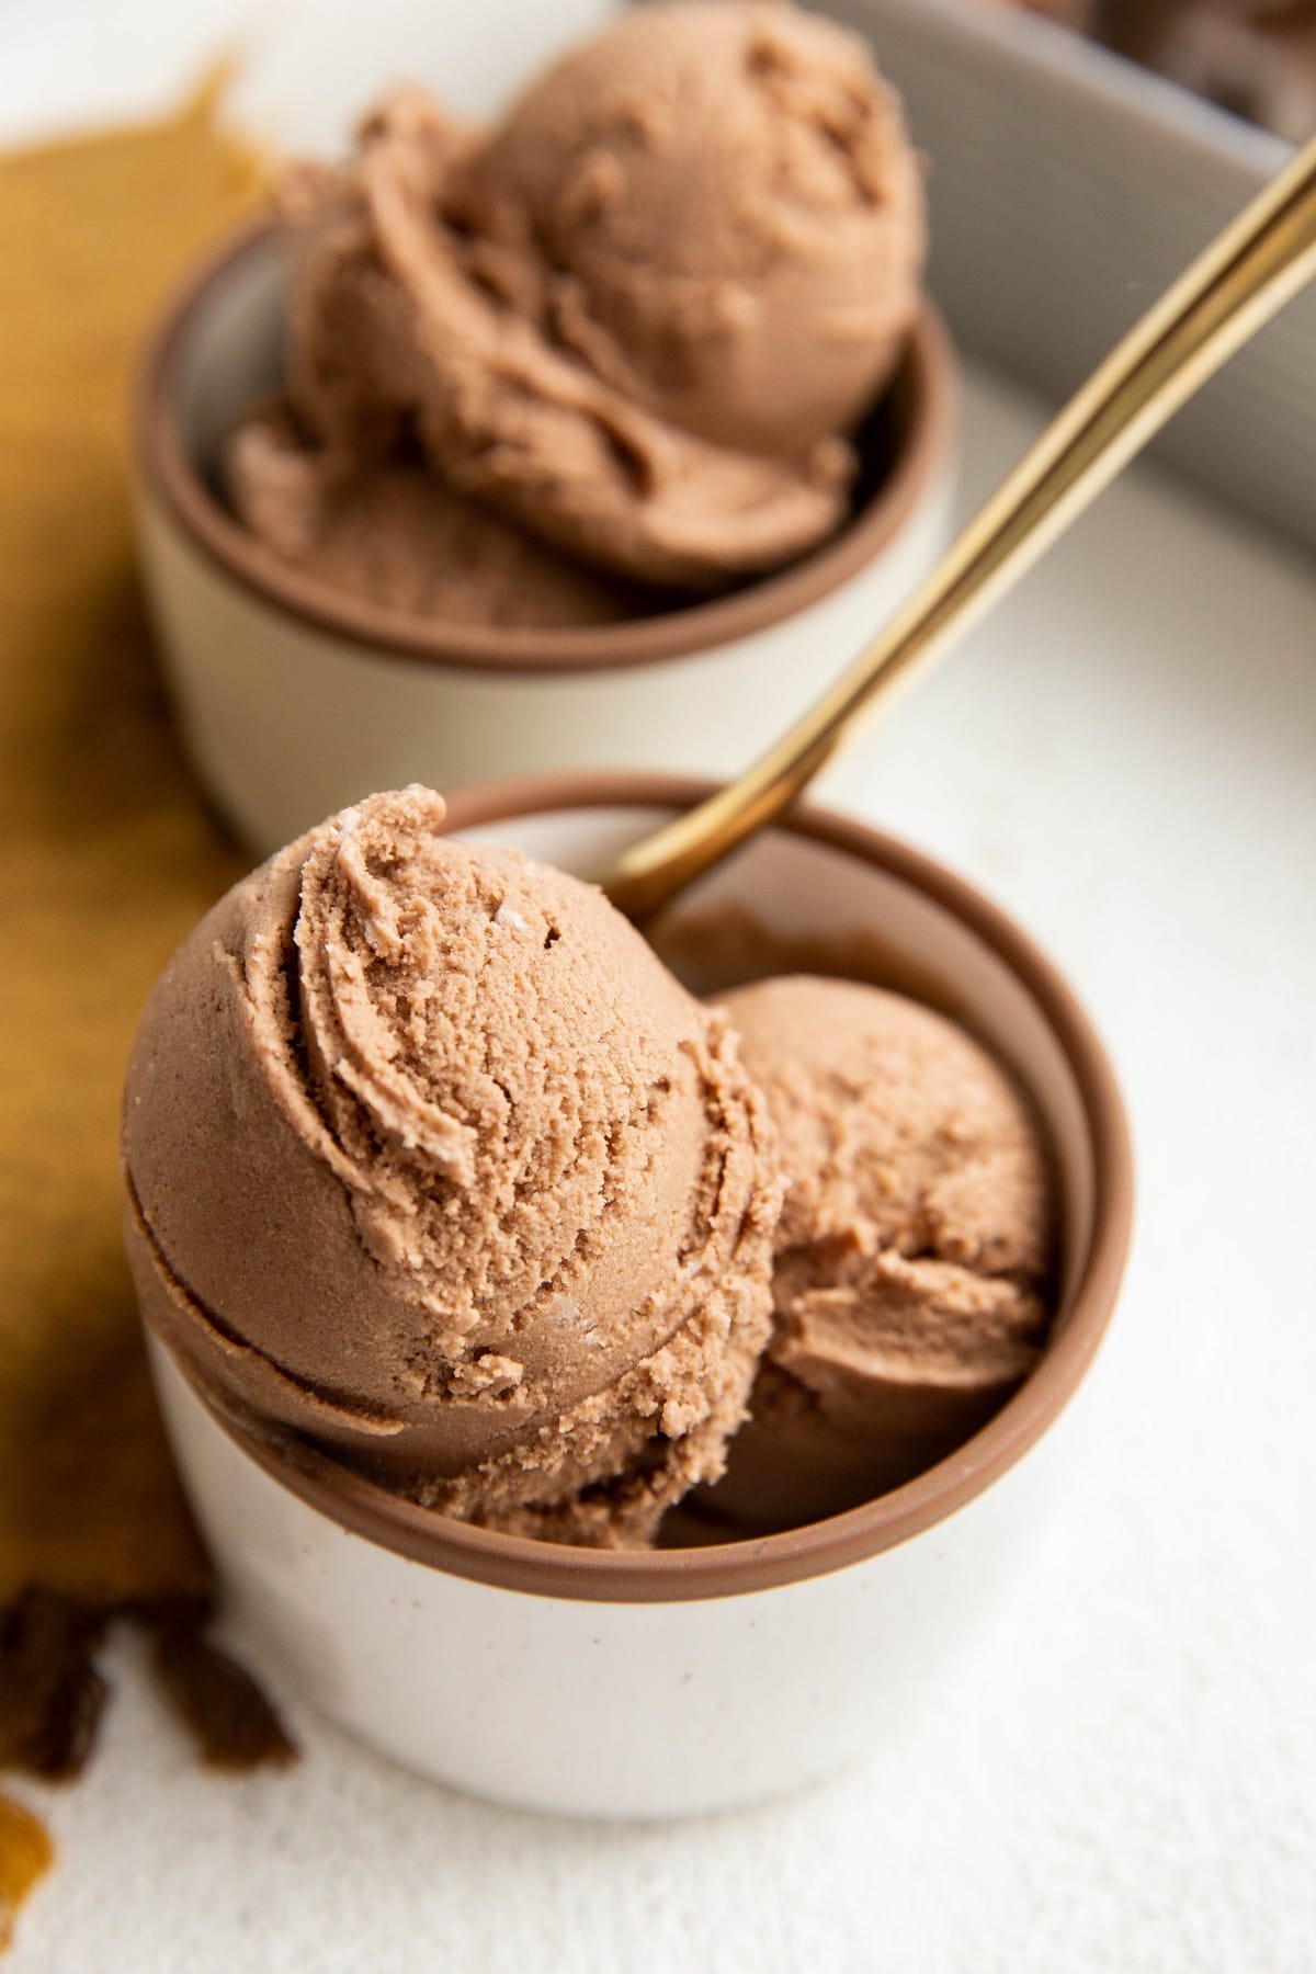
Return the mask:
<svg viewBox="0 0 1316 1974">
<path fill-rule="evenodd" d="M 168 304 L 136 381 L 132 424 L 138 472 L 174 525 L 223 574 L 266 606 L 355 645 L 363 657 L 511 673 L 612 671 L 732 644 L 809 608 L 874 561 L 906 525 L 951 450 L 955 357 L 941 318 L 923 302 L 892 385 L 912 397 L 902 448 L 866 507 L 813 555 L 732 596 L 623 624 L 580 630 L 424 624 L 404 610 L 337 596 L 280 563 L 225 513 L 178 432 L 172 383 L 187 334 L 215 292 L 249 259 L 270 251 L 274 235 L 268 221 L 245 227 Z"/>
</svg>

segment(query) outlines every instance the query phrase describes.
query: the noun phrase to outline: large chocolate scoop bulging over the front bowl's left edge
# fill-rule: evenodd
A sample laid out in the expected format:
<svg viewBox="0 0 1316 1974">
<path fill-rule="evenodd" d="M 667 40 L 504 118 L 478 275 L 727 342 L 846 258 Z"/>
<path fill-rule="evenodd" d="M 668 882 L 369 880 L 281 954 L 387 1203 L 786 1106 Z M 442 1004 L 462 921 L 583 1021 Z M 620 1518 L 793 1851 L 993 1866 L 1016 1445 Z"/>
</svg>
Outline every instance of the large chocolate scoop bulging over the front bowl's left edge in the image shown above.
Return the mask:
<svg viewBox="0 0 1316 1974">
<path fill-rule="evenodd" d="M 124 1090 L 142 1311 L 203 1392 L 487 1526 L 643 1544 L 769 1329 L 771 1131 L 602 892 L 373 796 L 237 884 Z"/>
</svg>

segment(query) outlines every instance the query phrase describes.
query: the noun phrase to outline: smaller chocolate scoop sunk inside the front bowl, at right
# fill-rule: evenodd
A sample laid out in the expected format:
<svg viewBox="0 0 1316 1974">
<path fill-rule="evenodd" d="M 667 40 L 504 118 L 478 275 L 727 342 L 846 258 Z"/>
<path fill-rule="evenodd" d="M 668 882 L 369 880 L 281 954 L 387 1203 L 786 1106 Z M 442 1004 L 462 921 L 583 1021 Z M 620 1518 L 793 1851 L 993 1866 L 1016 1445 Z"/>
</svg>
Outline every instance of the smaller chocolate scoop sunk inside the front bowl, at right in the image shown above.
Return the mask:
<svg viewBox="0 0 1316 1974">
<path fill-rule="evenodd" d="M 722 1001 L 777 1127 L 775 1330 L 712 1500 L 752 1526 L 910 1480 L 1040 1356 L 1052 1188 L 1010 1078 L 953 1023 L 856 981 Z"/>
</svg>

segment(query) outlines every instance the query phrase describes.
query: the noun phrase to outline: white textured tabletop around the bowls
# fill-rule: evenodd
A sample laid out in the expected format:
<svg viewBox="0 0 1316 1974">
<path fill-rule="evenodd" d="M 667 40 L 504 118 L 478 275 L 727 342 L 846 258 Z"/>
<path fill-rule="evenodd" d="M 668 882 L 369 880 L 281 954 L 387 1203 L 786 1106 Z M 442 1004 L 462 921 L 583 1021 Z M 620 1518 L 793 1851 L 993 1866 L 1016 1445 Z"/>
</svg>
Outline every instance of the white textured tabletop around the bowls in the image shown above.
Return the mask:
<svg viewBox="0 0 1316 1974">
<path fill-rule="evenodd" d="M 73 18 L 6 0 L 6 126 L 16 43 L 32 75 L 24 32 Z M 1036 418 L 975 383 L 967 492 Z M 416 1783 L 296 1696 L 306 1759 L 213 1781 L 124 1642 L 87 1781 L 26 1790 L 61 1867 L 12 1974 L 1308 1974 L 1314 770 L 1316 572 L 1142 476 L 884 730 L 870 813 L 1071 973 L 1142 1167 L 1089 1465 L 935 1717 L 764 1810 L 562 1824 Z"/>
</svg>

